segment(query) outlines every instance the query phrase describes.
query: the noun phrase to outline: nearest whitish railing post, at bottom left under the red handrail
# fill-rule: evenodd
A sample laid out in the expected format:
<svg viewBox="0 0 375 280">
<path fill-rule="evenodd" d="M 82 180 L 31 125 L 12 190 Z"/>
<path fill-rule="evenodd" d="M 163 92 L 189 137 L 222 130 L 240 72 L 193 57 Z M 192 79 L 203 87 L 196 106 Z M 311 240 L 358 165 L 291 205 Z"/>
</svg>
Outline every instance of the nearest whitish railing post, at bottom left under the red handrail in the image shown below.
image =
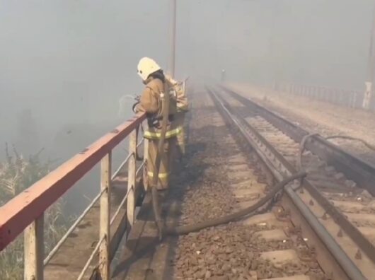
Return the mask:
<svg viewBox="0 0 375 280">
<path fill-rule="evenodd" d="M 25 228 L 25 280 L 43 280 L 44 244 L 44 214 Z"/>
</svg>

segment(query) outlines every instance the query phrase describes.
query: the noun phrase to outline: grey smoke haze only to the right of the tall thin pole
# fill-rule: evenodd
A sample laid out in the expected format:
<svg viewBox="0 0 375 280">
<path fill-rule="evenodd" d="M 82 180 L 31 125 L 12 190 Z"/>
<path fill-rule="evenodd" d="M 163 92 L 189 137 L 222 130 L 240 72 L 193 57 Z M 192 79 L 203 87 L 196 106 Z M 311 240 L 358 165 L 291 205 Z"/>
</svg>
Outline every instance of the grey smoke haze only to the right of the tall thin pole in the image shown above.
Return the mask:
<svg viewBox="0 0 375 280">
<path fill-rule="evenodd" d="M 373 0 L 180 1 L 181 6 L 188 12 L 180 11 L 178 69 L 218 78 L 225 68 L 237 81 L 364 88 Z M 190 28 L 183 31 L 187 18 Z"/>
</svg>

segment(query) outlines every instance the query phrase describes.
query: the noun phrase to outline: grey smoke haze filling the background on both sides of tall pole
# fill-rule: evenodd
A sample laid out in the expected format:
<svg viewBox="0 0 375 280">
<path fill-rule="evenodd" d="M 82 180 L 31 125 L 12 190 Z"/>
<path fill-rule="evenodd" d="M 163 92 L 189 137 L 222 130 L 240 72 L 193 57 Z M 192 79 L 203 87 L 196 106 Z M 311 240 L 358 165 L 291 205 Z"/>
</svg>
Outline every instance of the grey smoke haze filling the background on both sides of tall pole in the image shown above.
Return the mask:
<svg viewBox="0 0 375 280">
<path fill-rule="evenodd" d="M 374 0 L 177 2 L 177 78 L 364 88 Z M 64 161 L 132 115 L 119 100 L 139 58 L 168 68 L 170 20 L 170 0 L 1 1 L 0 158 Z"/>
</svg>

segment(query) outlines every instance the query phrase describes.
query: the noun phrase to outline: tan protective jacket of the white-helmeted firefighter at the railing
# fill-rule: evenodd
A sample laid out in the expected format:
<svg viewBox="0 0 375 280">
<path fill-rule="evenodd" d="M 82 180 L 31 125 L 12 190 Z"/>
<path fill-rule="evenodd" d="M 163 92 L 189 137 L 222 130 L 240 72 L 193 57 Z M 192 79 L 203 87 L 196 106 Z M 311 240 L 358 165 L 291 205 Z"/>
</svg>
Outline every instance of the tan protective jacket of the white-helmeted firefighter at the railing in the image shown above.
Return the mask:
<svg viewBox="0 0 375 280">
<path fill-rule="evenodd" d="M 168 85 L 158 78 L 151 79 L 146 84 L 146 88 L 144 88 L 137 111 L 146 112 L 147 115 L 149 129 L 144 132 L 146 139 L 159 139 L 161 137 L 162 98 L 164 93 L 168 92 Z M 181 128 L 178 127 L 176 122 L 173 122 L 176 112 L 176 100 L 170 98 L 166 139 L 177 136 L 180 133 Z"/>
</svg>

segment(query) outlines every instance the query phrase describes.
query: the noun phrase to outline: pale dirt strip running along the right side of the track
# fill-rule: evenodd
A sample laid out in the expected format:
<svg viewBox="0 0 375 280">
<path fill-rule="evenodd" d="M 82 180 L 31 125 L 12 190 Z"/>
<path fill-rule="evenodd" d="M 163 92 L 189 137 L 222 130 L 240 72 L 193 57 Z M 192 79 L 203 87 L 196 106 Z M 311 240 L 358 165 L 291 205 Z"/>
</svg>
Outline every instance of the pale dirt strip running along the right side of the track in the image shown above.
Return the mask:
<svg viewBox="0 0 375 280">
<path fill-rule="evenodd" d="M 375 113 L 341 107 L 290 93 L 231 83 L 233 91 L 251 98 L 310 132 L 323 136 L 350 135 L 375 145 Z M 356 141 L 333 140 L 335 144 L 375 165 L 375 151 Z"/>
</svg>

